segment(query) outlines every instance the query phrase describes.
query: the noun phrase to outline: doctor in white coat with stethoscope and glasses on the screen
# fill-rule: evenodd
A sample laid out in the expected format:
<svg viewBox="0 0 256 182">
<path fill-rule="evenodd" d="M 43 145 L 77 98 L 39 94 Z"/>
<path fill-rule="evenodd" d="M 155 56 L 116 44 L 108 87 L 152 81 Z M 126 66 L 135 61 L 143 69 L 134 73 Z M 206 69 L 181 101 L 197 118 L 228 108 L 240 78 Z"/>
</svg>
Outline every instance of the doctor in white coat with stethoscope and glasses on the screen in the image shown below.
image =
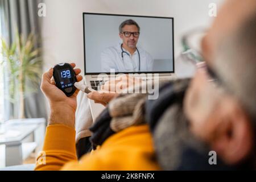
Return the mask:
<svg viewBox="0 0 256 182">
<path fill-rule="evenodd" d="M 125 20 L 119 26 L 119 37 L 122 43 L 106 48 L 101 53 L 102 72 L 150 72 L 154 60 L 151 55 L 137 47 L 139 25 L 132 19 Z"/>
</svg>

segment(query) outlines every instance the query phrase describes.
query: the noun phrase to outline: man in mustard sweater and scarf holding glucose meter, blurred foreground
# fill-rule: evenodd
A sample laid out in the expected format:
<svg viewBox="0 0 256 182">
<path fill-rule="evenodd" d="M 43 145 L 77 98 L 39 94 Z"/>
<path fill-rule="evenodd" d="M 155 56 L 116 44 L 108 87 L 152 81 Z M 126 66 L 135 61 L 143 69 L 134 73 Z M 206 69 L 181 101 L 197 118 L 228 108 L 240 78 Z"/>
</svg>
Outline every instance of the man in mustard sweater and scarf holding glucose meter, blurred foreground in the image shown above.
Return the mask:
<svg viewBox="0 0 256 182">
<path fill-rule="evenodd" d="M 42 90 L 50 101 L 51 117 L 44 143 L 47 163 L 40 163 L 39 157 L 36 169 L 212 169 L 209 151 L 218 157 L 214 169 L 254 168 L 255 10 L 255 0 L 227 1 L 202 40 L 204 62 L 197 64 L 188 89 L 182 84 L 188 80 L 169 83 L 159 90 L 158 100 L 135 103 L 135 124 L 127 116 L 118 119 L 119 110 L 130 109 L 118 107 L 116 100 L 122 97 L 110 101 L 91 128 L 94 149 L 99 143 L 101 147 L 80 162 L 73 129 L 76 94 L 72 98 L 59 94 L 51 84 L 52 69 L 44 73 Z M 88 97 L 97 100 L 98 96 L 94 92 Z M 125 97 L 127 105 L 143 100 L 137 94 Z M 147 124 L 138 125 L 144 113 L 138 104 L 145 105 L 144 119 L 152 136 Z"/>
</svg>

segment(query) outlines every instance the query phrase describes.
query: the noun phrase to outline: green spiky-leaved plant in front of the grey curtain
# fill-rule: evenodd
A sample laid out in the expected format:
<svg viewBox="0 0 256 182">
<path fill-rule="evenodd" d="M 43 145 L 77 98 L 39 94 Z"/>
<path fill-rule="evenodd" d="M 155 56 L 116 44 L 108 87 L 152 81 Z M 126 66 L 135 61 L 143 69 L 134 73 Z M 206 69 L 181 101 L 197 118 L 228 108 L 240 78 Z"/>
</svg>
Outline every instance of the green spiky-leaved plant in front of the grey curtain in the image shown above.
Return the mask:
<svg viewBox="0 0 256 182">
<path fill-rule="evenodd" d="M 1 39 L 1 44 L 1 64 L 9 82 L 8 98 L 14 106 L 14 118 L 25 118 L 24 98 L 38 89 L 42 75 L 41 51 L 36 48 L 36 36 L 32 33 L 25 39 L 16 32 L 13 43 Z"/>
</svg>

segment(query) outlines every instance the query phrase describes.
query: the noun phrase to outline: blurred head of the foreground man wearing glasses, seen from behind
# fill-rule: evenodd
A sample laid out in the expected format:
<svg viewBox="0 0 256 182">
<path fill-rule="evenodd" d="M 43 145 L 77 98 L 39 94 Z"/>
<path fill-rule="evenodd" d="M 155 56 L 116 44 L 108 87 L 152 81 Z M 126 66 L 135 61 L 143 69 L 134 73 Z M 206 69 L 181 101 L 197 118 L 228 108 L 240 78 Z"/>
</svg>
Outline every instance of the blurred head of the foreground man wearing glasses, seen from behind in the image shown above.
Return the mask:
<svg viewBox="0 0 256 182">
<path fill-rule="evenodd" d="M 256 1 L 243 2 L 226 3 L 203 38 L 184 102 L 192 132 L 229 165 L 255 163 Z"/>
</svg>

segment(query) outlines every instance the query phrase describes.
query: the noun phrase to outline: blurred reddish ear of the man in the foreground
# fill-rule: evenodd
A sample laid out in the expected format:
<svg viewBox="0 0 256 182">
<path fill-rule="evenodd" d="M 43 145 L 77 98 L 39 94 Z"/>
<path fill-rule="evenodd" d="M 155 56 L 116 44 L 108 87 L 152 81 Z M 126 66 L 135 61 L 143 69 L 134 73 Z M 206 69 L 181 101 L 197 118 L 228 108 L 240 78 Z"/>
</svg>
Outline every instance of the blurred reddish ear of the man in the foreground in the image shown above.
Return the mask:
<svg viewBox="0 0 256 182">
<path fill-rule="evenodd" d="M 253 126 L 245 110 L 232 98 L 224 98 L 220 106 L 212 148 L 228 164 L 240 163 L 253 150 Z"/>
</svg>

